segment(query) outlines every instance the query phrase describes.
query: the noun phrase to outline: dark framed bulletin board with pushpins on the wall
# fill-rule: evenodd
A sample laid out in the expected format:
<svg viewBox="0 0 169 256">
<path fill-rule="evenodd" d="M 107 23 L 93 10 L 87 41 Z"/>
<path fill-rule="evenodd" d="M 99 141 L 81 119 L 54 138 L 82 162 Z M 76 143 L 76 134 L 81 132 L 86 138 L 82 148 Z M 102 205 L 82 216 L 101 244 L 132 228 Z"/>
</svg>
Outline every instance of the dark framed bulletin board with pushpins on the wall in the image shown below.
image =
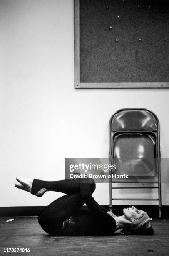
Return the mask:
<svg viewBox="0 0 169 256">
<path fill-rule="evenodd" d="M 74 0 L 75 88 L 169 88 L 169 1 Z"/>
</svg>

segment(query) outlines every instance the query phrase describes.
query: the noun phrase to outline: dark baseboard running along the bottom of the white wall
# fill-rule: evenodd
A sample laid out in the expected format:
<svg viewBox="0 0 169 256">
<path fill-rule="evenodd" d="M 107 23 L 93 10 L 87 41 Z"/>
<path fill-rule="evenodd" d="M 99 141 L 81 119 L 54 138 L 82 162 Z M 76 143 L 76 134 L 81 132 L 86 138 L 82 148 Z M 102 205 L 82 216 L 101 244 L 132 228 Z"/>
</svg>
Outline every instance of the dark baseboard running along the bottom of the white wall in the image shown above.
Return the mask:
<svg viewBox="0 0 169 256">
<path fill-rule="evenodd" d="M 157 205 L 135 205 L 138 209 L 142 209 L 152 218 L 158 218 L 159 208 Z M 102 207 L 109 210 L 108 205 Z M 121 215 L 123 208 L 131 207 L 131 205 L 113 205 L 113 212 Z M 86 208 L 83 206 L 83 208 Z M 16 217 L 16 216 L 38 216 L 45 209 L 45 206 L 15 206 L 0 207 L 0 217 Z M 169 206 L 162 206 L 162 218 L 169 218 Z"/>
</svg>

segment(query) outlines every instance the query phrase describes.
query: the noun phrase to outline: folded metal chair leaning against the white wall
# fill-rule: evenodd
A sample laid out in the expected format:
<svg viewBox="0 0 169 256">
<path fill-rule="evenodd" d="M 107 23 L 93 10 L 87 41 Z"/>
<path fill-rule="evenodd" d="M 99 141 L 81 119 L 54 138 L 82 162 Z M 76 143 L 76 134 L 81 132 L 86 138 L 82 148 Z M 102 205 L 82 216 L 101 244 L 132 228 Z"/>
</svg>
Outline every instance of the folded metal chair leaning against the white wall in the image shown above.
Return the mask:
<svg viewBox="0 0 169 256">
<path fill-rule="evenodd" d="M 110 171 L 110 210 L 113 200 L 157 200 L 161 217 L 159 120 L 152 111 L 128 108 L 112 115 L 109 164 L 117 167 Z M 158 198 L 112 198 L 112 189 L 158 189 Z"/>
</svg>

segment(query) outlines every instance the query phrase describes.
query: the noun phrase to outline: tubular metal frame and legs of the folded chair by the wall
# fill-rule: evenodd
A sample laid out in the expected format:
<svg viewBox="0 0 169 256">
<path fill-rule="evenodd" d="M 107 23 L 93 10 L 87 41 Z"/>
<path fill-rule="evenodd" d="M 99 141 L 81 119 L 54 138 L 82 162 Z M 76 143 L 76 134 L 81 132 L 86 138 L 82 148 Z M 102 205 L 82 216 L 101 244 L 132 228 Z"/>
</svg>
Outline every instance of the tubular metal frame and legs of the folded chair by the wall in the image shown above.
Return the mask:
<svg viewBox="0 0 169 256">
<path fill-rule="evenodd" d="M 117 113 L 119 113 L 120 111 L 123 110 L 146 110 L 149 113 L 151 113 L 154 118 L 156 119 L 157 122 L 157 136 L 156 136 L 156 158 L 157 158 L 157 177 L 158 177 L 158 181 L 157 182 L 145 182 L 142 183 L 142 185 L 140 186 L 141 183 L 138 184 L 138 186 L 134 186 L 134 184 L 137 185 L 137 183 L 135 182 L 125 182 L 125 184 L 130 184 L 130 186 L 124 186 L 124 183 L 122 182 L 115 182 L 116 184 L 123 184 L 123 186 L 120 187 L 113 187 L 112 186 L 112 176 L 109 179 L 109 199 L 110 199 L 110 204 L 109 204 L 109 209 L 110 211 L 112 211 L 112 201 L 113 200 L 128 200 L 128 201 L 142 201 L 142 200 L 148 200 L 148 201 L 152 201 L 152 200 L 156 200 L 159 202 L 159 218 L 161 218 L 161 208 L 162 208 L 162 193 L 161 193 L 161 166 L 160 166 L 160 158 L 161 158 L 161 153 L 160 153 L 160 130 L 159 130 L 159 120 L 157 118 L 157 115 L 155 115 L 152 111 L 147 110 L 145 108 L 123 108 L 118 110 L 116 113 L 114 113 L 109 121 L 109 164 L 113 164 L 113 136 L 112 136 L 112 129 L 111 129 L 111 125 L 112 125 L 112 118 L 114 117 L 114 115 L 116 115 Z M 136 133 L 136 132 L 140 132 L 140 133 L 147 133 L 148 131 L 119 131 L 120 133 Z M 115 132 L 117 133 L 117 132 Z M 115 134 L 114 133 L 114 134 Z M 112 170 L 110 170 L 110 175 L 112 174 Z M 146 186 L 146 184 L 149 184 L 149 186 Z M 157 186 L 151 187 L 150 184 L 157 184 Z M 112 189 L 144 189 L 144 188 L 148 188 L 148 189 L 158 189 L 158 198 L 157 199 L 138 199 L 138 198 L 116 198 L 113 199 L 112 198 Z"/>
</svg>

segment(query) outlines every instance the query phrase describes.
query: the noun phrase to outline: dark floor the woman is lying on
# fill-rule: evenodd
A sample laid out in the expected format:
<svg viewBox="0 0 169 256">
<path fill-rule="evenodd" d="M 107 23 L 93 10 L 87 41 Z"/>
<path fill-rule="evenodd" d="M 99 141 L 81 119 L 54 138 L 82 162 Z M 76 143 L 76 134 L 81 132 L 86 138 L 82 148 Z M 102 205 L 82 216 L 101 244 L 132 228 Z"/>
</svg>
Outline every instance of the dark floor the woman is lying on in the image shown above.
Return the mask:
<svg viewBox="0 0 169 256">
<path fill-rule="evenodd" d="M 154 219 L 153 236 L 79 236 L 47 235 L 37 218 L 0 218 L 0 255 L 169 255 L 169 219 Z M 4 248 L 30 248 L 30 253 L 3 253 Z"/>
</svg>

